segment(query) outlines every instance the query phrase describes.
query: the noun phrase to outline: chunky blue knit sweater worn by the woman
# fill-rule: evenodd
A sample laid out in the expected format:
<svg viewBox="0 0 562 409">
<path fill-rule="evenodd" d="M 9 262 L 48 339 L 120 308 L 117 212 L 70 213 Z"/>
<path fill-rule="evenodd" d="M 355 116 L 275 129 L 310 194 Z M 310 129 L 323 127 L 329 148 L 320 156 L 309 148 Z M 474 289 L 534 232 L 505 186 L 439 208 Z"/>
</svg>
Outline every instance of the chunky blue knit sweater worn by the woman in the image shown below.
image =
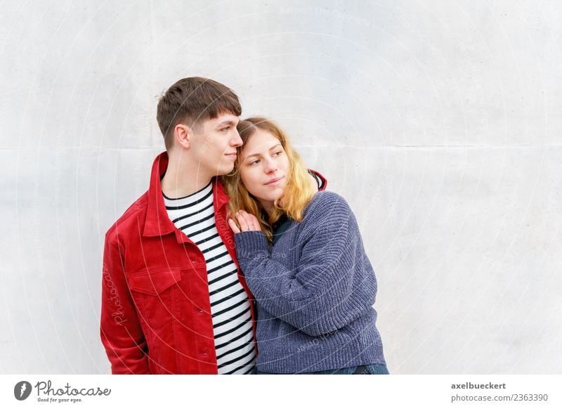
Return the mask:
<svg viewBox="0 0 562 409">
<path fill-rule="evenodd" d="M 377 280 L 343 197 L 316 193 L 274 247 L 261 231 L 237 233 L 235 243 L 257 300 L 259 370 L 386 365 L 372 308 Z"/>
</svg>

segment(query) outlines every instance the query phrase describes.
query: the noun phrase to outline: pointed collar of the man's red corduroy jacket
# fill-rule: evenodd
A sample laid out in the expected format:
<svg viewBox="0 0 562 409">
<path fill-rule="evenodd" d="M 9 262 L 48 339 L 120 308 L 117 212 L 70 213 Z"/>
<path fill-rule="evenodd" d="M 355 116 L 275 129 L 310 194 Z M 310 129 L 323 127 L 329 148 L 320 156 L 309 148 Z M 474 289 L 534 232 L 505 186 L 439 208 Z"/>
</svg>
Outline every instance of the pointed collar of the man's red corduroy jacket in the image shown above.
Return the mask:
<svg viewBox="0 0 562 409">
<path fill-rule="evenodd" d="M 179 231 L 174 223 L 171 222 L 166 206 L 164 205 L 164 197 L 162 195 L 162 185 L 160 178 L 168 168 L 168 153 L 162 152 L 156 157 L 152 164 L 150 173 L 150 187 L 148 188 L 148 209 L 146 212 L 145 228 L 143 235 L 148 237 L 162 236 L 176 233 L 178 242 L 187 240 L 185 234 Z M 223 184 L 217 178 L 213 178 L 213 201 L 215 215 L 218 209 L 221 209 L 230 197 L 226 195 Z M 179 234 L 178 234 L 179 233 Z M 185 238 L 185 240 L 184 240 Z"/>
</svg>

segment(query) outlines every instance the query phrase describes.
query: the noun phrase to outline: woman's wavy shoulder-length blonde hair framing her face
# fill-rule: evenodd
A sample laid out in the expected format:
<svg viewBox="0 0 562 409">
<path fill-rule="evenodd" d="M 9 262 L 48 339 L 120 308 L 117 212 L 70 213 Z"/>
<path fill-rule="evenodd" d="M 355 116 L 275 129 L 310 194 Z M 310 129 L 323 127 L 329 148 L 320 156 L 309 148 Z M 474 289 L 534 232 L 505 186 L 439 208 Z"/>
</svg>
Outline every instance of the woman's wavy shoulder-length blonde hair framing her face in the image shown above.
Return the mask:
<svg viewBox="0 0 562 409">
<path fill-rule="evenodd" d="M 245 210 L 248 213 L 254 214 L 259 220 L 261 230 L 266 232 L 268 240 L 271 242 L 273 240 L 271 228 L 273 223 L 278 221 L 283 214 L 287 214 L 293 220 L 302 221 L 304 209 L 311 202 L 316 189 L 311 184 L 308 170 L 304 166 L 299 153 L 293 149 L 287 134 L 279 125 L 275 124 L 271 119 L 251 117 L 240 121 L 237 129 L 244 145 L 251 136 L 256 134 L 258 129 L 269 132 L 280 141 L 289 159 L 289 173 L 287 174 L 285 192 L 282 197 L 275 200 L 269 214 L 261 207 L 258 200 L 248 192 L 240 179 L 240 166 L 244 159 L 240 152 L 244 149 L 244 145 L 242 145 L 242 148 L 238 148 L 239 155 L 237 156 L 234 170 L 230 174 L 223 176 L 226 193 L 230 196 L 230 202 L 228 203 L 230 216 L 232 217 L 238 210 Z"/>
</svg>

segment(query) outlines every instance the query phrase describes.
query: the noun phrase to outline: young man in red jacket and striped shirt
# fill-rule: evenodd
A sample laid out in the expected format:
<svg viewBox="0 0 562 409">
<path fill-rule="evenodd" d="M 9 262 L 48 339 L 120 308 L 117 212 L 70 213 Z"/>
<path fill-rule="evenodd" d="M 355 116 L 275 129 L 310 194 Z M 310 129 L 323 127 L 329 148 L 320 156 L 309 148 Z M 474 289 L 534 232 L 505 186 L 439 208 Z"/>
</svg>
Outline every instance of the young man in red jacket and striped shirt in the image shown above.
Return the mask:
<svg viewBox="0 0 562 409">
<path fill-rule="evenodd" d="M 240 101 L 185 78 L 159 101 L 166 152 L 105 235 L 101 339 L 114 374 L 247 374 L 254 307 L 214 176 L 233 170 Z"/>
</svg>

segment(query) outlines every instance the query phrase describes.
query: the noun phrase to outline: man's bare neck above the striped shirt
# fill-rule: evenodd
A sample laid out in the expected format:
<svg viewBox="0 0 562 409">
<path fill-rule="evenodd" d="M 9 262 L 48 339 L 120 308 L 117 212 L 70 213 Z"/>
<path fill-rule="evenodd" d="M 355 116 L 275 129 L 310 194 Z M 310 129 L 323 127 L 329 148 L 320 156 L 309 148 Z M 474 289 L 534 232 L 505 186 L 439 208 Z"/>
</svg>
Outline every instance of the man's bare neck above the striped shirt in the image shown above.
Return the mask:
<svg viewBox="0 0 562 409">
<path fill-rule="evenodd" d="M 201 169 L 190 167 L 188 161 L 183 160 L 183 163 L 178 164 L 170 160 L 161 181 L 162 193 L 171 198 L 185 197 L 207 186 L 211 178 L 202 174 Z"/>
</svg>

